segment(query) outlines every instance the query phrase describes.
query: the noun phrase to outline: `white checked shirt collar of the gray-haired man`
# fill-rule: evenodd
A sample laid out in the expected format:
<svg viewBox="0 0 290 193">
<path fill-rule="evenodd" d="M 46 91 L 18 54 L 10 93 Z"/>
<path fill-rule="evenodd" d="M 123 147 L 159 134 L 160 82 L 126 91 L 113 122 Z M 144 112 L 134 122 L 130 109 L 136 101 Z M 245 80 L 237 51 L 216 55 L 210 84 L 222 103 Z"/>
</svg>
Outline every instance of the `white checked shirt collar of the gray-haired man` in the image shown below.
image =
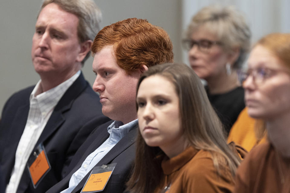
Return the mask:
<svg viewBox="0 0 290 193">
<path fill-rule="evenodd" d="M 54 106 L 56 106 L 56 104 L 61 99 L 63 94 L 73 84 L 73 82 L 79 77 L 80 74 L 81 74 L 81 71 L 79 70 L 71 78 L 57 85 L 56 87 L 50 90 L 47 90 L 46 92 L 42 92 L 42 87 L 40 84 L 41 80 L 39 80 L 30 94 L 30 103 L 32 101 L 37 101 L 41 113 L 44 113 L 44 114 L 47 113 L 50 110 L 47 107 L 53 108 Z M 35 96 L 35 94 L 39 92 L 40 94 Z"/>
</svg>

